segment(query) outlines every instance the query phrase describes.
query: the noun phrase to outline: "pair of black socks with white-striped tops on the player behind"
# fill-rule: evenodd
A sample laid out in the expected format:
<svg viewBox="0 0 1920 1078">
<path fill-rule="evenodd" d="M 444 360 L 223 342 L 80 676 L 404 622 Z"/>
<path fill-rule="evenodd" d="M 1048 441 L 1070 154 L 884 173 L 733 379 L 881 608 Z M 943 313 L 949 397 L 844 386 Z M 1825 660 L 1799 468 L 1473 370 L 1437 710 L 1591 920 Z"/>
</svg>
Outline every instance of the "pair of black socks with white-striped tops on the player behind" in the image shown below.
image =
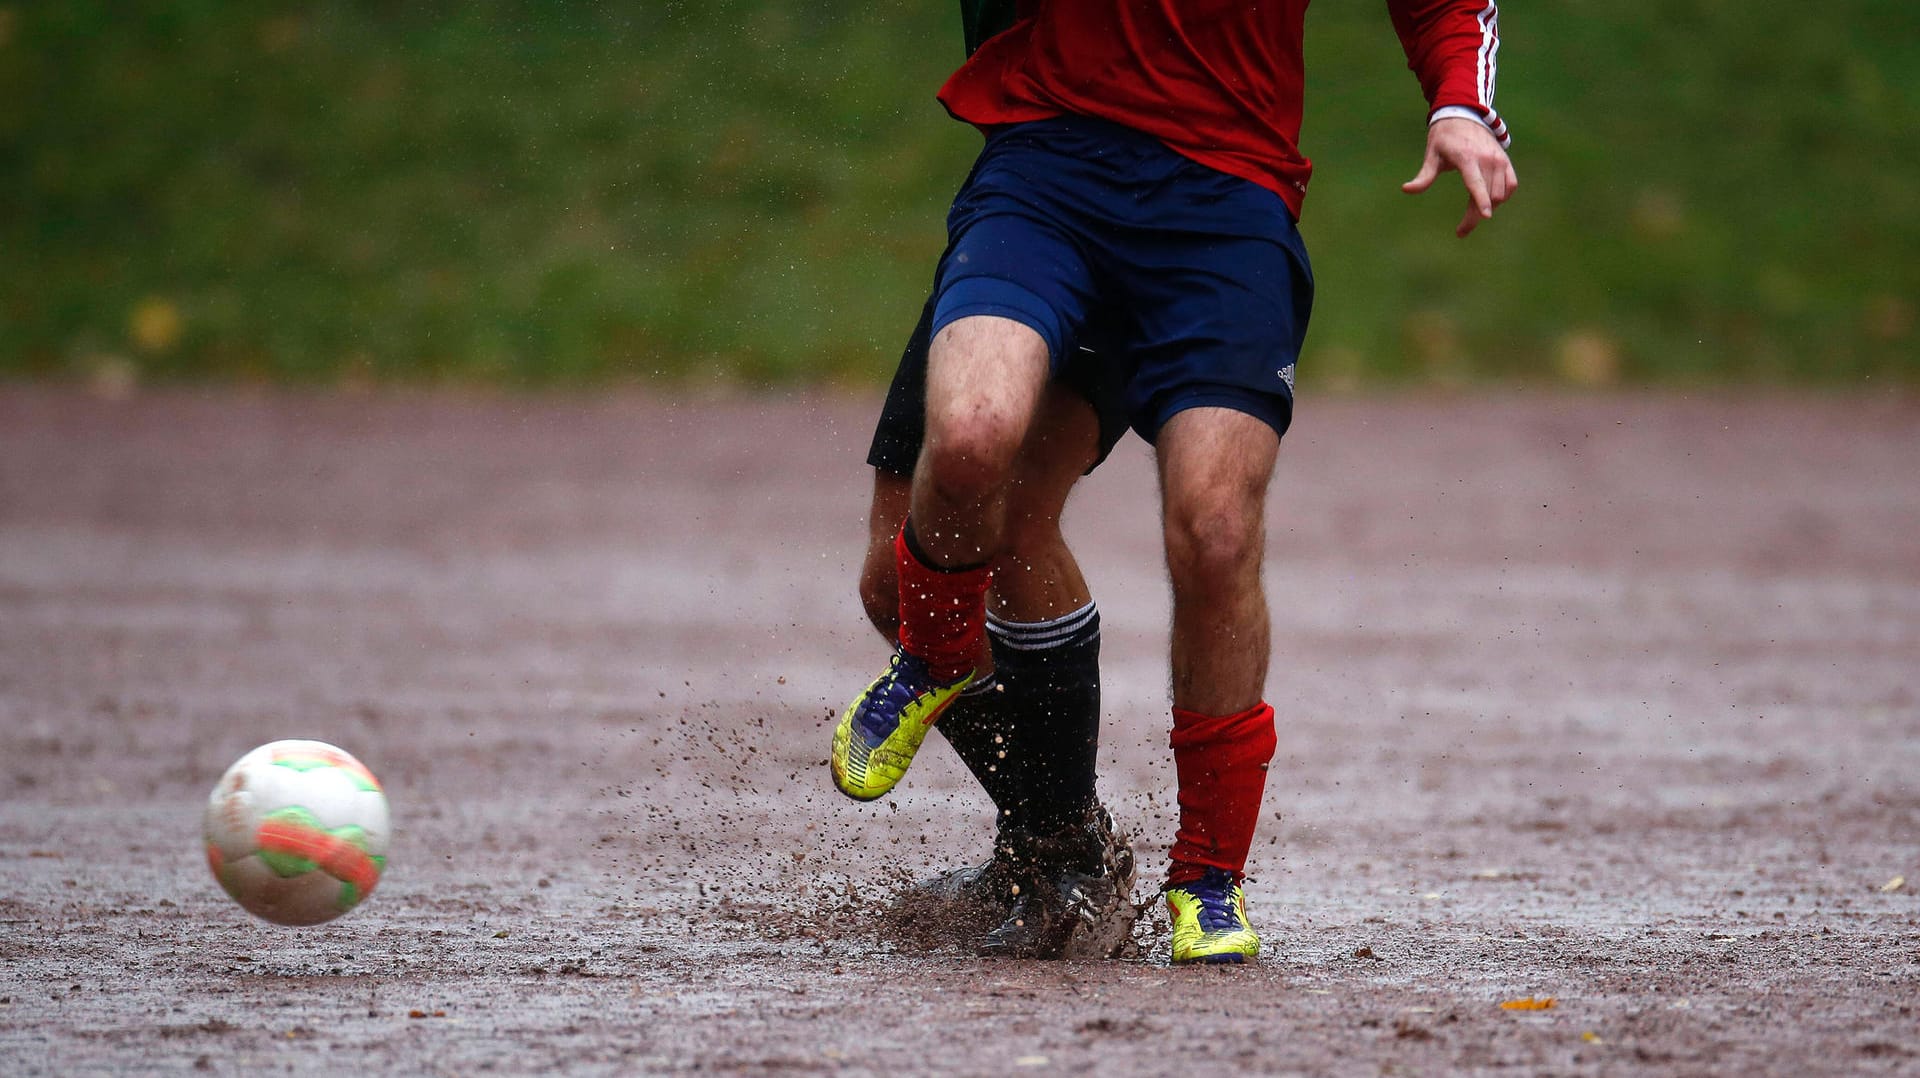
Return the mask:
<svg viewBox="0 0 1920 1078">
<path fill-rule="evenodd" d="M 989 615 L 987 642 L 993 682 L 954 701 L 935 730 L 979 780 L 1002 830 L 1083 822 L 1100 751 L 1100 611 L 1087 603 L 1044 623 Z"/>
</svg>

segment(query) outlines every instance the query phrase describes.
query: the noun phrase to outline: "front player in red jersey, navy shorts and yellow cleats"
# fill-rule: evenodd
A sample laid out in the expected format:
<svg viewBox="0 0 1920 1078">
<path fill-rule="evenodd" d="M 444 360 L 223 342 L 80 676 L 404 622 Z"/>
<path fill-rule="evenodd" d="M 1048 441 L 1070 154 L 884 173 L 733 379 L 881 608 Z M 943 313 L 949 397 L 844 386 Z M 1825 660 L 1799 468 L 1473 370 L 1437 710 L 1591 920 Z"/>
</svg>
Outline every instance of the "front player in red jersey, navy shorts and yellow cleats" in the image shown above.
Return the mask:
<svg viewBox="0 0 1920 1078">
<path fill-rule="evenodd" d="M 1296 231 L 1306 0 L 1039 0 L 947 81 L 987 142 L 935 275 L 925 444 L 897 540 L 900 630 L 833 734 L 833 778 L 879 797 L 975 678 L 1014 461 L 1085 327 L 1123 325 L 1129 413 L 1154 444 L 1173 584 L 1175 963 L 1260 953 L 1242 874 L 1277 732 L 1265 492 L 1292 419 L 1313 284 Z M 1388 0 L 1427 96 L 1407 192 L 1457 171 L 1455 234 L 1513 194 L 1490 0 Z"/>
</svg>

